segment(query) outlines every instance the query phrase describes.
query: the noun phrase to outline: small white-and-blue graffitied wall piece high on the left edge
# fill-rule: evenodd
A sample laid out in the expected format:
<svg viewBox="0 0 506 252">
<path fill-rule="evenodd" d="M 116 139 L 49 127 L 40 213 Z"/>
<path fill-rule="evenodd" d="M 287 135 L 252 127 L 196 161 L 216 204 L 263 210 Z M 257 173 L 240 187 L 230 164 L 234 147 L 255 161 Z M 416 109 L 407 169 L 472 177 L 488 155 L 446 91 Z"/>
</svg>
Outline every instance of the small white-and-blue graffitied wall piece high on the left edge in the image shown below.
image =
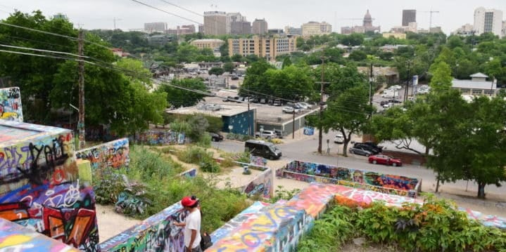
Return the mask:
<svg viewBox="0 0 506 252">
<path fill-rule="evenodd" d="M 0 119 L 23 122 L 23 107 L 18 87 L 0 88 Z"/>
</svg>

